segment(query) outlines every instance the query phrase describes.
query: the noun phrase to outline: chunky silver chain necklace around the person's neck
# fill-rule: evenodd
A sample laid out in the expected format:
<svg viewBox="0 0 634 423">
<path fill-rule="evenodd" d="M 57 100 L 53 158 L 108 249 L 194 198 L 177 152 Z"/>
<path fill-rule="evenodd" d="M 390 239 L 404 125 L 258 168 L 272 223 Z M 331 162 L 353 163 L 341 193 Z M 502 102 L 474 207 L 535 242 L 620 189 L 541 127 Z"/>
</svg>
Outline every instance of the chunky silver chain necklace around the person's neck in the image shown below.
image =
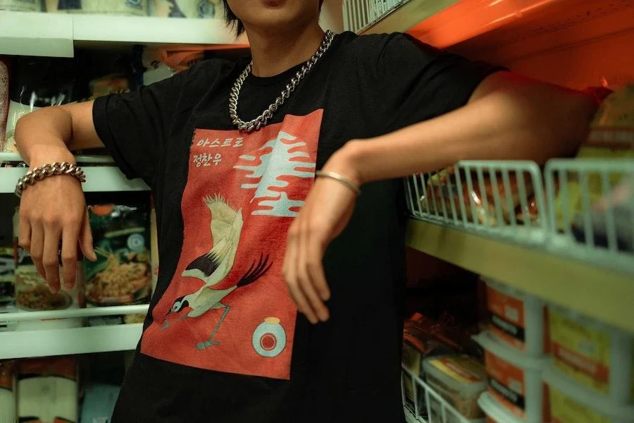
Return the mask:
<svg viewBox="0 0 634 423">
<path fill-rule="evenodd" d="M 330 47 L 330 44 L 332 44 L 332 39 L 334 37 L 335 37 L 334 32 L 330 30 L 326 31 L 323 37 L 323 40 L 321 42 L 321 45 L 319 46 L 319 49 L 315 52 L 315 54 L 313 54 L 311 59 L 309 59 L 309 61 L 304 63 L 304 66 L 302 66 L 302 68 L 299 69 L 297 73 L 295 73 L 295 76 L 291 78 L 290 82 L 286 85 L 285 89 L 282 90 L 280 97 L 275 99 L 275 102 L 273 102 L 271 106 L 268 106 L 268 109 L 263 111 L 260 116 L 253 119 L 252 121 L 245 122 L 245 121 L 242 121 L 242 119 L 239 116 L 237 116 L 237 104 L 238 104 L 237 102 L 238 102 L 238 97 L 240 97 L 240 90 L 242 89 L 242 84 L 244 84 L 244 80 L 247 79 L 247 76 L 249 76 L 249 73 L 251 73 L 251 69 L 253 68 L 253 61 L 251 61 L 251 63 L 249 63 L 249 66 L 247 66 L 247 68 L 244 69 L 244 71 L 242 71 L 242 73 L 237 78 L 237 80 L 235 80 L 235 84 L 233 84 L 231 93 L 229 94 L 229 116 L 231 118 L 232 123 L 236 125 L 238 129 L 246 130 L 247 132 L 259 130 L 264 125 L 266 125 L 266 123 L 268 122 L 268 119 L 270 119 L 271 116 L 273 116 L 273 113 L 275 113 L 275 111 L 277 111 L 280 108 L 280 106 L 284 104 L 286 99 L 290 97 L 290 94 L 294 92 L 297 85 L 299 85 L 299 82 L 302 81 L 302 79 L 304 79 L 304 76 L 306 76 L 306 73 L 309 73 L 309 71 L 313 68 L 315 63 L 317 63 L 317 61 L 321 59 L 321 56 L 323 56 L 323 54 L 328 50 L 328 47 Z"/>
</svg>

